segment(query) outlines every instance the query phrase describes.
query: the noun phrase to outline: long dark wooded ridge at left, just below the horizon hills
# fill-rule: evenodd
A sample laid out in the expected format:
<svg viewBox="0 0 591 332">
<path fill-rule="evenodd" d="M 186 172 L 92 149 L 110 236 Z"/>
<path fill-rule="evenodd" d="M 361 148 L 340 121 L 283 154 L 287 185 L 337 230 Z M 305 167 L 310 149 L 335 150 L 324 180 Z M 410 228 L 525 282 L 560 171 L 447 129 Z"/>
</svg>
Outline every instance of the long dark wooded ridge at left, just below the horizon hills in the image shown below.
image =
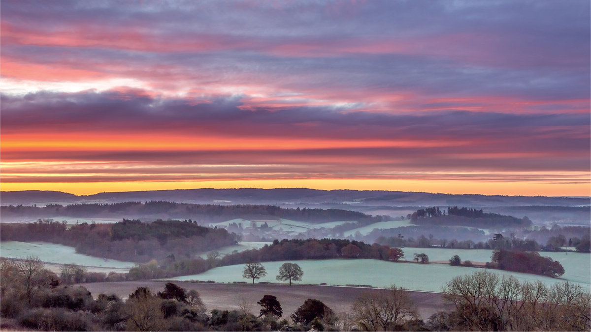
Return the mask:
<svg viewBox="0 0 591 332">
<path fill-rule="evenodd" d="M 389 216 L 371 216 L 341 209 L 281 208 L 274 205 L 215 205 L 165 202 L 124 202 L 113 204 L 71 204 L 67 206 L 0 206 L 2 218 L 51 218 L 71 216 L 97 218 L 99 216 L 134 216 L 135 218 L 196 219 L 199 222 L 223 222 L 230 219 L 290 219 L 307 222 L 357 221 L 363 225 L 392 220 Z"/>
</svg>

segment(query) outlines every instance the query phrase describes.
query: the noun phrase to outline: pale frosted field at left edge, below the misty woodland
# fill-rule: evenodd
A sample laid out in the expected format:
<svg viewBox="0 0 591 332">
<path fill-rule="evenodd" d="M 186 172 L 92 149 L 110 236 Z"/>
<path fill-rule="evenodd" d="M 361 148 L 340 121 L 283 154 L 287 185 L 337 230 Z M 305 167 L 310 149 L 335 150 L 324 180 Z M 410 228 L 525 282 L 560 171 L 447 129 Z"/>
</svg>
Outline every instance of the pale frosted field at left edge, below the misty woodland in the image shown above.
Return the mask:
<svg viewBox="0 0 591 332">
<path fill-rule="evenodd" d="M 129 269 L 135 265 L 133 262 L 116 261 L 77 254 L 72 246 L 51 244 L 47 242 L 0 242 L 0 256 L 6 258 L 26 258 L 28 255 L 37 256 L 41 261 L 57 264 L 78 264 L 86 267 L 100 268 L 125 268 Z"/>
</svg>

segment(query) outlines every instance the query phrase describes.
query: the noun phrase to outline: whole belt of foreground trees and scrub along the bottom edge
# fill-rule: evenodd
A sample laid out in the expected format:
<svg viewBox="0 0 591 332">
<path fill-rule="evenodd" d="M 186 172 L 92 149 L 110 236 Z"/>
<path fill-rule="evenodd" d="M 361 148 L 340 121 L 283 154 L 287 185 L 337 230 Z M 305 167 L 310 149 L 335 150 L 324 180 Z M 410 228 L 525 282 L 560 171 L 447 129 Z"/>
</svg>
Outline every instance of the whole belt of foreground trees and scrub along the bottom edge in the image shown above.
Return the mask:
<svg viewBox="0 0 591 332">
<path fill-rule="evenodd" d="M 3 328 L 45 331 L 588 331 L 591 295 L 569 282 L 546 286 L 478 271 L 455 277 L 443 288 L 451 310 L 426 321 L 411 294 L 394 285 L 368 290 L 349 313 L 336 314 L 320 300 L 304 301 L 290 320 L 274 295 L 257 302 L 258 315 L 242 299 L 239 310 L 207 312 L 199 292 L 168 282 L 153 292 L 139 287 L 127 300 L 118 295 L 93 298 L 84 287 L 64 285 L 38 258 L 1 259 L 0 316 Z M 286 267 L 281 271 L 288 271 Z M 64 279 L 72 271 L 63 271 Z M 75 274 L 75 271 L 74 271 Z M 278 276 L 279 277 L 279 276 Z"/>
</svg>

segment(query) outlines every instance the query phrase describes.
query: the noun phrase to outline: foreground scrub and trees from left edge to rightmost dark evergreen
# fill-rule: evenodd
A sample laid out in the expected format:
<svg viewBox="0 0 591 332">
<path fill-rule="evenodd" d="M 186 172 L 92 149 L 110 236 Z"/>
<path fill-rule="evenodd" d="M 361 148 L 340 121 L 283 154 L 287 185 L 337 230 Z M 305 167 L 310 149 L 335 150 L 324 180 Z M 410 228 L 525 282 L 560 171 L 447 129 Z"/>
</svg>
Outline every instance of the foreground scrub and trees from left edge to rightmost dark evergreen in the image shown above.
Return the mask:
<svg viewBox="0 0 591 332">
<path fill-rule="evenodd" d="M 25 266 L 32 273 L 25 273 Z M 115 294 L 99 294 L 95 300 L 84 287 L 61 284 L 34 257 L 2 259 L 0 278 L 0 317 L 2 328 L 8 330 L 323 331 L 334 330 L 336 322 L 333 311 L 314 299 L 298 308 L 292 315 L 297 318 L 293 323 L 280 320 L 283 311 L 274 295 L 258 301 L 258 316 L 251 312 L 248 301 L 242 301 L 240 310 L 213 309 L 208 313 L 199 292 L 171 282 L 157 292 L 139 287 L 127 300 Z"/>
</svg>

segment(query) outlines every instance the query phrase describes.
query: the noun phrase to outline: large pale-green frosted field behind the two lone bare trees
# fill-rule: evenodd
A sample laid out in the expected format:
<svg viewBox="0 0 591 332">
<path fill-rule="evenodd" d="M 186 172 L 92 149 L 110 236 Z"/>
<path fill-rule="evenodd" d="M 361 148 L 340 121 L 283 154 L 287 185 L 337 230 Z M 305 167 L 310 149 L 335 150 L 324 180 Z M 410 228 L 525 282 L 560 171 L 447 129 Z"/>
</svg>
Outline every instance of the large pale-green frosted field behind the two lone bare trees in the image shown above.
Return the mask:
<svg viewBox="0 0 591 332">
<path fill-rule="evenodd" d="M 277 282 L 275 276 L 279 267 L 287 261 L 263 262 L 267 269 L 267 276 L 258 281 Z M 478 268 L 452 267 L 444 264 L 416 264 L 404 262 L 386 262 L 375 259 L 327 259 L 320 261 L 290 261 L 296 262 L 304 271 L 302 284 L 320 284 L 326 282 L 332 285 L 372 285 L 373 287 L 388 287 L 396 284 L 408 290 L 441 291 L 446 282 L 457 275 L 465 275 Z M 230 265 L 210 269 L 207 272 L 196 275 L 186 275 L 174 278 L 175 280 L 215 280 L 216 282 L 249 281 L 242 278 L 243 264 Z M 493 273 L 503 275 L 512 274 L 519 280 L 543 281 L 553 285 L 563 282 L 563 279 L 542 277 L 540 275 L 522 274 L 507 271 L 489 269 Z M 589 288 L 589 284 L 582 287 Z"/>
</svg>

